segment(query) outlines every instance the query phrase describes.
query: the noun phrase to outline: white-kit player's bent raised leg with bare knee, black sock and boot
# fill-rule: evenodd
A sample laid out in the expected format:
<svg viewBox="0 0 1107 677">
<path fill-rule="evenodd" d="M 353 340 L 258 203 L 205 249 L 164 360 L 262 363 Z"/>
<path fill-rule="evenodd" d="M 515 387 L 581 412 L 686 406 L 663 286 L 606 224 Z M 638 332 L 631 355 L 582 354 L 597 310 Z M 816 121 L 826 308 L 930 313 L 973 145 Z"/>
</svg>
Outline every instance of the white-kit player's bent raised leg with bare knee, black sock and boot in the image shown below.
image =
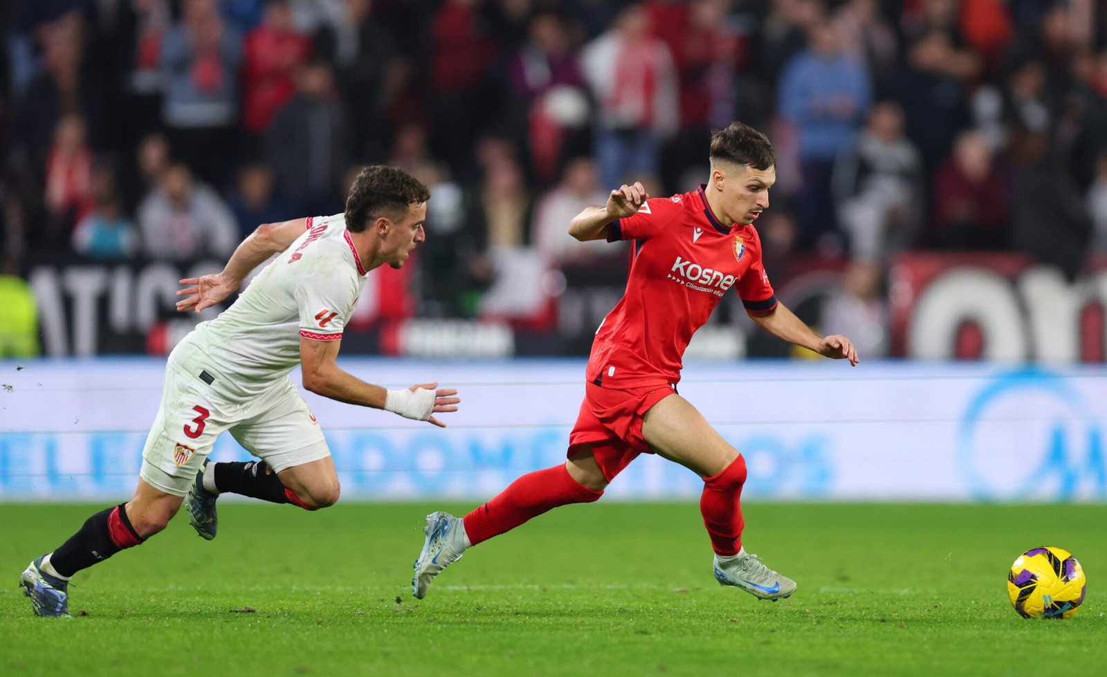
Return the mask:
<svg viewBox="0 0 1107 677">
<path fill-rule="evenodd" d="M 325 445 L 320 450 L 324 448 Z M 196 475 L 196 481 L 188 492 L 186 509 L 188 523 L 197 534 L 209 541 L 216 535 L 216 499 L 223 492 L 239 493 L 270 503 L 291 503 L 304 510 L 319 510 L 337 503 L 341 490 L 334 460 L 330 456 L 284 468 L 279 472 L 273 472 L 263 460 L 209 464 L 205 459 L 204 467 Z"/>
</svg>

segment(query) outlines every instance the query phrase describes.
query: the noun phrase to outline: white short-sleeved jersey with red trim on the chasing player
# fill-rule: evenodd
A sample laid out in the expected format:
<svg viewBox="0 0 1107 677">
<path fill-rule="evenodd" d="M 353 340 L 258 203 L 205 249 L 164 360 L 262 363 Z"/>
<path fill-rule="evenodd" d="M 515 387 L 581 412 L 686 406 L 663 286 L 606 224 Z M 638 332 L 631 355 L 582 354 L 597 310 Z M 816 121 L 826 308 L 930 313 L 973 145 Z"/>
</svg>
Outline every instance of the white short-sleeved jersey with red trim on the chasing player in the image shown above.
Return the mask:
<svg viewBox="0 0 1107 677">
<path fill-rule="evenodd" d="M 236 395 L 263 392 L 300 364 L 301 336 L 342 337 L 365 274 L 344 215 L 309 218 L 303 235 L 227 311 L 199 324 L 180 353 L 201 351 Z"/>
</svg>

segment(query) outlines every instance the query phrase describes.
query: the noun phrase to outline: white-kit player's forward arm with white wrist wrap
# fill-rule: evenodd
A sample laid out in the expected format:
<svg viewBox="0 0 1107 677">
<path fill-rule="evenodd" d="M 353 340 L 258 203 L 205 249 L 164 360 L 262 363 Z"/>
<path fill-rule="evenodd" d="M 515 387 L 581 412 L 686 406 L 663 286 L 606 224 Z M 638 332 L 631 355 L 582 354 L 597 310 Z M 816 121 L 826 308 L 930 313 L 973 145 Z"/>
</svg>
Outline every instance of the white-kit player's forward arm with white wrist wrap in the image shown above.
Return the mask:
<svg viewBox="0 0 1107 677">
<path fill-rule="evenodd" d="M 339 367 L 337 341 L 313 341 L 300 337 L 300 366 L 303 372 L 303 387 L 317 395 L 348 404 L 385 409 L 413 420 L 425 420 L 439 428 L 446 424 L 434 414 L 456 412 L 462 402 L 454 388 L 439 388 L 437 383 L 413 385 L 410 388 L 389 390 L 365 383 Z"/>
</svg>

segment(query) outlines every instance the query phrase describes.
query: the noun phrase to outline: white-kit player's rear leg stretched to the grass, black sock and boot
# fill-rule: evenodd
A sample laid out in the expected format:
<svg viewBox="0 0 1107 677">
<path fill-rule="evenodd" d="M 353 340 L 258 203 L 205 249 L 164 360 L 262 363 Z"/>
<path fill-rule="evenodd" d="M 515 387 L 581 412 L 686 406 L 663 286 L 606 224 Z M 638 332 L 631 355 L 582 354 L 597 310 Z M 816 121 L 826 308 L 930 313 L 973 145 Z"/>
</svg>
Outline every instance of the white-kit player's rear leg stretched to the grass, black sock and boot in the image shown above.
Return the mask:
<svg viewBox="0 0 1107 677">
<path fill-rule="evenodd" d="M 35 615 L 70 616 L 69 582 L 73 574 L 165 529 L 182 500 L 139 479 L 128 502 L 101 510 L 56 550 L 37 558 L 20 577 Z"/>
</svg>

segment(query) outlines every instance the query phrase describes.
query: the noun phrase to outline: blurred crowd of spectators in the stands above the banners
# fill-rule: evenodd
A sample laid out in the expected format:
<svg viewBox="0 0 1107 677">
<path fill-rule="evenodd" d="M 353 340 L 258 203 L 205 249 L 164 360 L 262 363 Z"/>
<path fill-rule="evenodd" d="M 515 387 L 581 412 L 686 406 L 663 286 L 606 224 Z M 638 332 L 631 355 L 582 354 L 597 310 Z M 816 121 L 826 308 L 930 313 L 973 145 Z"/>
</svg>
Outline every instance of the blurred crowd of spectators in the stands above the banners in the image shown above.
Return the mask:
<svg viewBox="0 0 1107 677">
<path fill-rule="evenodd" d="M 341 210 L 363 164 L 432 188 L 420 314 L 534 314 L 621 183 L 707 177 L 732 119 L 777 149 L 768 269 L 848 262 L 880 321 L 904 250 L 1107 251 L 1097 0 L 13 0 L 0 259 L 224 258 Z M 830 311 L 828 311 L 830 312 Z M 856 316 L 856 317 L 855 317 Z"/>
</svg>

